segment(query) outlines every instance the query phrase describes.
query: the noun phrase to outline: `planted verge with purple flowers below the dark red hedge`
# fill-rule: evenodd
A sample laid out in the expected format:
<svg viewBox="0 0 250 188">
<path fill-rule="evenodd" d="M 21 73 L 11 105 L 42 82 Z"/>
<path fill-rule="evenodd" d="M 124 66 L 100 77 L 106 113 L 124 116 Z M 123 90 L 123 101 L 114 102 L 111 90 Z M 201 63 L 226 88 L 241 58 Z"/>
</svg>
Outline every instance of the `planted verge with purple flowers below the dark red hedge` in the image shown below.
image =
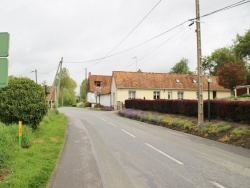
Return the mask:
<svg viewBox="0 0 250 188">
<path fill-rule="evenodd" d="M 133 109 L 120 110 L 118 114 L 130 119 L 250 149 L 250 125 L 213 120 L 204 123 L 203 127 L 198 127 L 197 118 Z"/>
</svg>

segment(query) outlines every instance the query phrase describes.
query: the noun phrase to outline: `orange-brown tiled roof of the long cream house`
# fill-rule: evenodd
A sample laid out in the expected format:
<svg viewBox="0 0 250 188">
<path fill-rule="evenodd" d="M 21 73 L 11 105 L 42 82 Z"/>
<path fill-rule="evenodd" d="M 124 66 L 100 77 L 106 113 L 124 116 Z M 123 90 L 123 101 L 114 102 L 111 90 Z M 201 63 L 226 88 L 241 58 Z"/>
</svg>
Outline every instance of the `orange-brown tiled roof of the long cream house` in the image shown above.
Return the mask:
<svg viewBox="0 0 250 188">
<path fill-rule="evenodd" d="M 168 74 L 149 72 L 114 71 L 117 88 L 152 88 L 152 89 L 198 89 L 198 76 L 190 74 Z M 220 86 L 217 76 L 210 76 L 211 90 L 228 90 Z M 208 89 L 208 76 L 203 76 L 203 89 Z"/>
</svg>

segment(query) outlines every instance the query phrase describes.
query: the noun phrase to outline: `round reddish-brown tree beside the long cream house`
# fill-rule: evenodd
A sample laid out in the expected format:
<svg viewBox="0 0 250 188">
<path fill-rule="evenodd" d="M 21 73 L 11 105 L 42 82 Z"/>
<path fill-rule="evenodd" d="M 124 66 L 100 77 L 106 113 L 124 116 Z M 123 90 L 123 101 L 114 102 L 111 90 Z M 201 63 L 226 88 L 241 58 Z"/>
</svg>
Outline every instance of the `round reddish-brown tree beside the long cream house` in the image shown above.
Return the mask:
<svg viewBox="0 0 250 188">
<path fill-rule="evenodd" d="M 217 72 L 219 84 L 232 91 L 238 85 L 246 84 L 246 69 L 243 63 L 226 63 Z"/>
</svg>

